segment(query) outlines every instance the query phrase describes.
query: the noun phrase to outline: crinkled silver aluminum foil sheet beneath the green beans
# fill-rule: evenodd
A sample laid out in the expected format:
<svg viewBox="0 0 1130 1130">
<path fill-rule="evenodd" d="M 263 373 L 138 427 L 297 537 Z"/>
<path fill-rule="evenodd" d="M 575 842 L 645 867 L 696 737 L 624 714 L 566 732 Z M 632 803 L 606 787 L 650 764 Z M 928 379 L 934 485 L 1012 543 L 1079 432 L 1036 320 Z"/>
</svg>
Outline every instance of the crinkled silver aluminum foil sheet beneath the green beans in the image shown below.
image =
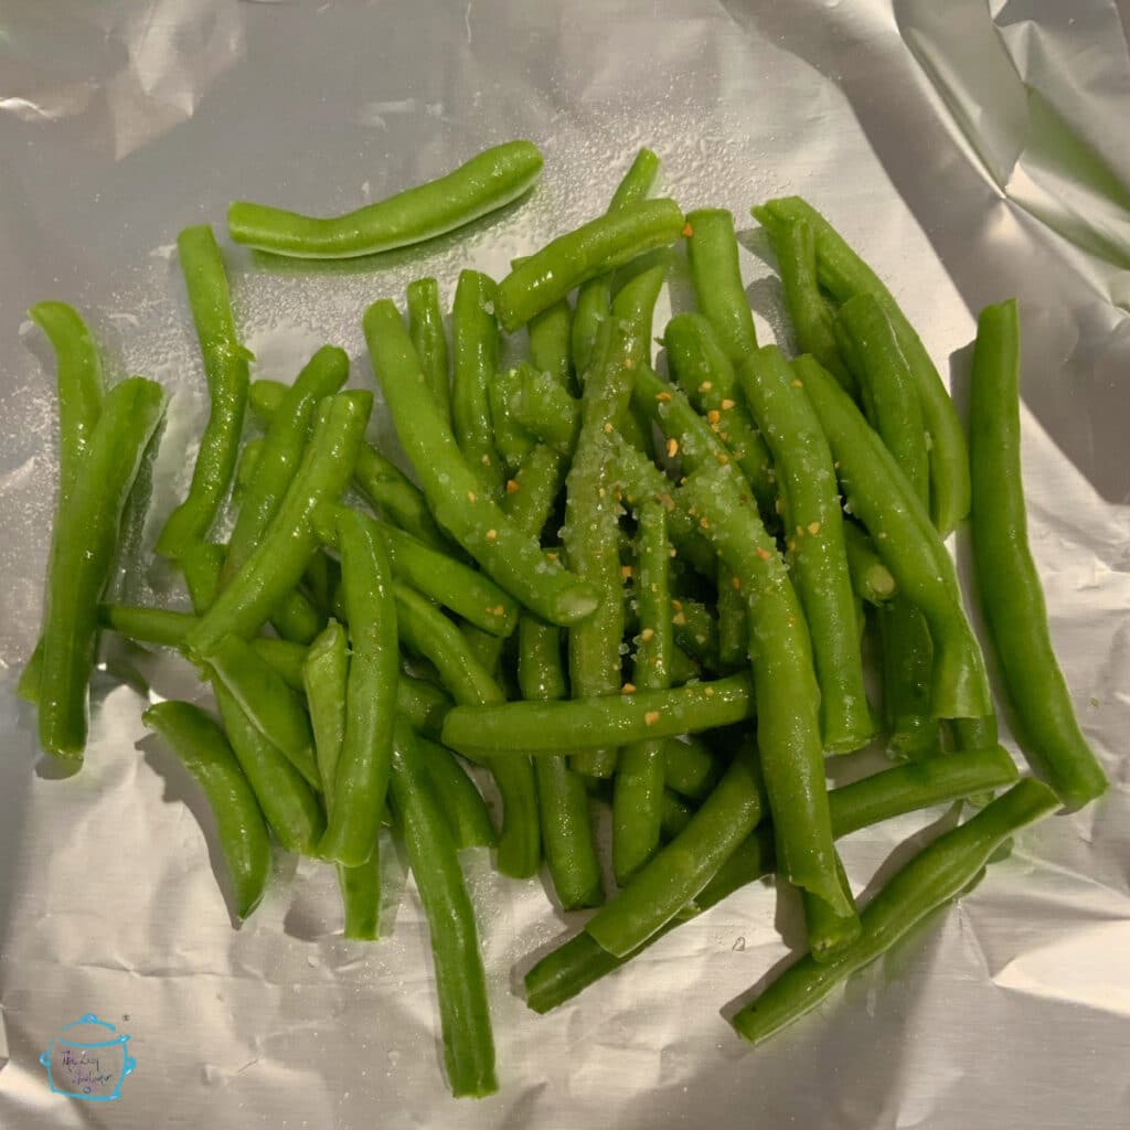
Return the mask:
<svg viewBox="0 0 1130 1130">
<path fill-rule="evenodd" d="M 1124 0 L 8 0 L 0 1124 L 1130 1123 L 1128 21 Z M 81 773 L 59 779 L 38 755 L 14 686 L 41 609 L 53 375 L 24 312 L 76 303 L 115 376 L 175 391 L 159 516 L 184 486 L 205 409 L 177 229 L 221 226 L 240 197 L 353 208 L 518 136 L 545 151 L 541 185 L 469 234 L 325 269 L 268 270 L 232 251 L 258 373 L 288 379 L 329 340 L 367 382 L 370 301 L 425 272 L 446 296 L 464 266 L 502 272 L 600 211 L 640 145 L 662 156 L 663 189 L 686 208 L 740 219 L 774 194 L 815 201 L 889 280 L 958 391 L 973 312 L 1016 294 L 1033 547 L 1113 788 L 1025 834 L 957 907 L 757 1051 L 720 1009 L 788 959 L 779 931 L 800 941 L 788 899 L 741 892 L 539 1018 L 518 996 L 521 973 L 577 922 L 541 883 L 502 879 L 472 853 L 502 1079 L 475 1103 L 449 1098 L 441 1077 L 427 935 L 402 876 L 389 877 L 397 909 L 376 945 L 340 937 L 332 875 L 305 861 L 280 861 L 266 904 L 233 930 L 210 819 L 139 721 L 147 693 L 199 693 L 176 660 L 115 649 Z M 764 243 L 742 240 L 759 332 L 786 336 Z M 120 588 L 183 600 L 157 568 Z M 847 758 L 832 773 L 867 767 Z M 946 818 L 850 837 L 855 889 Z M 64 1026 L 80 1020 L 107 1033 L 103 1075 L 132 1060 L 116 1101 L 52 1089 L 73 1051 Z M 71 1083 L 89 1085 L 73 1071 Z"/>
</svg>

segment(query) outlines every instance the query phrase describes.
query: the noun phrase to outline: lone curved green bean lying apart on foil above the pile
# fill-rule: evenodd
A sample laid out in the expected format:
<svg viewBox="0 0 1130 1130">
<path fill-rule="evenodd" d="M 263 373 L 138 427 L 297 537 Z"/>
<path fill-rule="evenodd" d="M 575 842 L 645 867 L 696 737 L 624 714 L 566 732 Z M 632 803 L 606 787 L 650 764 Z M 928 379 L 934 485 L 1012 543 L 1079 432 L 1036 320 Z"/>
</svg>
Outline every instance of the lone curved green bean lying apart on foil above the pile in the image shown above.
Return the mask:
<svg viewBox="0 0 1130 1130">
<path fill-rule="evenodd" d="M 372 255 L 432 240 L 518 200 L 537 182 L 541 164 L 531 142 L 507 141 L 344 216 L 323 219 L 237 200 L 227 209 L 227 229 L 236 243 L 295 259 Z"/>
</svg>

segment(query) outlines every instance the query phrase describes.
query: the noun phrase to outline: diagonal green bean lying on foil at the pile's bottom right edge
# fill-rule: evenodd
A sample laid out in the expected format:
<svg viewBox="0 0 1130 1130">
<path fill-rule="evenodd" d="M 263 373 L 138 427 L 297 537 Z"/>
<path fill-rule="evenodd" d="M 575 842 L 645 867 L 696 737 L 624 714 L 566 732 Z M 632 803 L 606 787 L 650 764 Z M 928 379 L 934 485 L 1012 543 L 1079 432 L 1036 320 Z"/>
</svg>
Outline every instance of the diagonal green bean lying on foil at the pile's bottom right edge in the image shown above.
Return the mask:
<svg viewBox="0 0 1130 1130">
<path fill-rule="evenodd" d="M 858 941 L 824 964 L 808 956 L 791 965 L 733 1017 L 734 1028 L 756 1044 L 811 1011 L 836 985 L 968 889 L 1001 843 L 1048 816 L 1055 805 L 1046 786 L 1022 781 L 967 824 L 939 836 L 868 903 Z"/>
</svg>

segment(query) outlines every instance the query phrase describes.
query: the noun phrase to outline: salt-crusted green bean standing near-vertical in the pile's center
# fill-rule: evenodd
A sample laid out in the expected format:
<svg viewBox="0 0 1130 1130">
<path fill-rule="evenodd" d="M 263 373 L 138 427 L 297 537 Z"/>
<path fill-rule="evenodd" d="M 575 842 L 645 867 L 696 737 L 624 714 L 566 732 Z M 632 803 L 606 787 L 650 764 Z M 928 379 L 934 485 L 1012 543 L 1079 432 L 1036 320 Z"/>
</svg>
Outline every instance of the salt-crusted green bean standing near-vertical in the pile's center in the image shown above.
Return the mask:
<svg viewBox="0 0 1130 1130">
<path fill-rule="evenodd" d="M 663 268 L 636 276 L 616 296 L 607 347 L 584 382 L 582 424 L 565 480 L 564 547 L 570 567 L 600 592 L 600 603 L 570 631 L 570 685 L 575 698 L 607 695 L 621 685 L 624 586 L 619 556 L 619 499 L 608 428 L 615 427 L 632 397 L 633 373 L 645 349 Z M 611 776 L 615 749 L 575 755 L 573 768 Z"/>
</svg>

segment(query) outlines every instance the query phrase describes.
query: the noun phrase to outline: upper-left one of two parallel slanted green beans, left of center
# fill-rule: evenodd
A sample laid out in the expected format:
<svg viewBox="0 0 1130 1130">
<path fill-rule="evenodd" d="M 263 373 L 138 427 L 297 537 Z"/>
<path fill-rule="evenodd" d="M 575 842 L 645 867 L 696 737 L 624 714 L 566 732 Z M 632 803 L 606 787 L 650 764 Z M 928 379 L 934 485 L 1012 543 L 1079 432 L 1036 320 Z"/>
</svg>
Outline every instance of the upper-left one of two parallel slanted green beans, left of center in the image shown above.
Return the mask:
<svg viewBox="0 0 1130 1130">
<path fill-rule="evenodd" d="M 348 375 L 349 357 L 346 351 L 336 346 L 323 346 L 286 390 L 267 428 L 254 479 L 243 497 L 240 515 L 227 542 L 221 585 L 226 585 L 246 564 L 262 540 L 297 473 L 319 403 L 323 397 L 337 392 Z"/>
</svg>

